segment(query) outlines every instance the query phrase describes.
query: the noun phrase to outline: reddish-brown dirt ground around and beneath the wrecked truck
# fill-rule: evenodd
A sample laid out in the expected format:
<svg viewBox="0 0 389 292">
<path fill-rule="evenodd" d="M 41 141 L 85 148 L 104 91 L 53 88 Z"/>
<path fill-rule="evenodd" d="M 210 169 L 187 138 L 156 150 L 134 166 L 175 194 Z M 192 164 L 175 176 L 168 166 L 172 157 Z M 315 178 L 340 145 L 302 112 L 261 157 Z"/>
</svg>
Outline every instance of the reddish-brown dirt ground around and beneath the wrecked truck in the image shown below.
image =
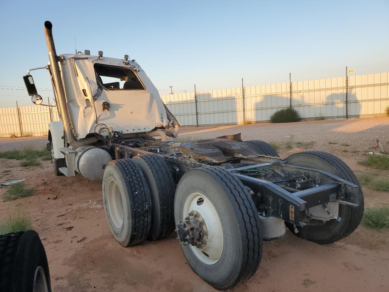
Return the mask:
<svg viewBox="0 0 389 292">
<path fill-rule="evenodd" d="M 354 171 L 374 151 L 376 138 L 389 148 L 389 118 L 304 121 L 289 124 L 183 127 L 183 139 L 242 133 L 243 140 L 260 139 L 280 146 L 281 157 L 302 150 L 338 155 Z M 0 151 L 39 147 L 46 137 L 0 138 Z M 336 143 L 336 144 L 329 144 Z M 343 144 L 343 145 L 342 145 Z M 348 145 L 348 146 L 346 146 Z M 290 149 L 289 149 L 290 148 Z M 102 208 L 101 181 L 81 176 L 54 176 L 51 162 L 23 168 L 17 160 L 0 159 L 0 181 L 27 178 L 36 195 L 0 202 L 0 220 L 15 212 L 29 214 L 49 260 L 53 291 L 216 291 L 187 265 L 172 234 L 167 239 L 122 248 L 113 239 Z M 2 173 L 5 169 L 9 173 Z M 389 203 L 389 193 L 363 188 L 366 206 Z M 0 189 L 0 196 L 5 189 Z M 53 200 L 53 196 L 58 196 Z M 62 216 L 58 216 L 64 214 Z M 58 225 L 58 223 L 64 223 Z M 73 226 L 66 231 L 65 227 Z M 47 229 L 49 227 L 49 229 Z M 77 243 L 78 239 L 86 237 Z M 389 291 L 389 231 L 359 226 L 349 237 L 317 245 L 294 236 L 265 242 L 257 273 L 232 291 Z"/>
</svg>

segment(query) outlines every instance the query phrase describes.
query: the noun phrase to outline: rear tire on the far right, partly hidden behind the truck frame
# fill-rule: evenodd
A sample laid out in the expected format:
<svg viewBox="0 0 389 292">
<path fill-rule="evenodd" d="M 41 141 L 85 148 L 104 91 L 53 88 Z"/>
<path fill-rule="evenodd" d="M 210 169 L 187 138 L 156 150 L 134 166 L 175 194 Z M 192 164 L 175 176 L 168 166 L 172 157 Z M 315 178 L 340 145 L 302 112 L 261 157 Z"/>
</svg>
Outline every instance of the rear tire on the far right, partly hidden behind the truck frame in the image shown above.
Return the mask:
<svg viewBox="0 0 389 292">
<path fill-rule="evenodd" d="M 339 204 L 339 216 L 342 218 L 340 222 L 335 219 L 325 223 L 320 220 L 311 220 L 312 223 L 310 225 L 297 227 L 297 236 L 315 243 L 327 244 L 348 236 L 358 227 L 359 223 L 361 223 L 364 210 L 363 192 L 361 184 L 347 164 L 338 157 L 323 151 L 295 153 L 285 160 L 287 164 L 328 171 L 359 186 L 359 206 L 353 208 Z M 293 224 L 286 223 L 286 225 L 295 234 Z"/>
</svg>

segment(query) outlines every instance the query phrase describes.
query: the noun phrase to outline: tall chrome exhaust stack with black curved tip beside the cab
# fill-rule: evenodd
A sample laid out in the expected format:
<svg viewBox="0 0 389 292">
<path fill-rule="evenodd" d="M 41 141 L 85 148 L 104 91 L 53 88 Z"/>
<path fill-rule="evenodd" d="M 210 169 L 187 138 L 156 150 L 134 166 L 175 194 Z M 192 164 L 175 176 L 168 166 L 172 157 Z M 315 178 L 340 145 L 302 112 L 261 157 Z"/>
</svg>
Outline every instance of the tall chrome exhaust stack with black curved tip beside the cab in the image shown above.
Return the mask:
<svg viewBox="0 0 389 292">
<path fill-rule="evenodd" d="M 65 89 L 62 84 L 60 69 L 58 67 L 58 56 L 55 51 L 53 32 L 51 29 L 53 25 L 50 21 L 45 21 L 45 37 L 47 44 L 47 51 L 49 52 L 49 63 L 50 63 L 50 71 L 51 71 L 51 81 L 53 84 L 53 89 L 56 97 L 56 103 L 58 105 L 58 113 L 60 114 L 61 121 L 63 123 L 63 129 L 65 132 L 65 141 L 74 147 L 84 146 L 88 143 L 96 142 L 97 139 L 93 137 L 93 141 L 75 141 L 73 135 L 73 127 L 70 121 L 69 111 L 66 105 L 65 99 Z M 96 140 L 96 141 L 95 141 Z"/>
</svg>

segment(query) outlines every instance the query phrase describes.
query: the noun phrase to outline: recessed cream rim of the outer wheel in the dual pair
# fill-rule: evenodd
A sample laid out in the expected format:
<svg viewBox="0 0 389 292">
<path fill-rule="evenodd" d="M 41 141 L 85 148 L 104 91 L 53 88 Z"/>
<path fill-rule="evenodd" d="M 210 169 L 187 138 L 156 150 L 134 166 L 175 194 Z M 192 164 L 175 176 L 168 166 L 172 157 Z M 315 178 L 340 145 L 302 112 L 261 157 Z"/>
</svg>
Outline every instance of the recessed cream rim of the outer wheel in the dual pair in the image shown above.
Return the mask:
<svg viewBox="0 0 389 292">
<path fill-rule="evenodd" d="M 121 229 L 124 220 L 123 202 L 119 187 L 113 179 L 108 182 L 107 201 L 112 223 L 114 223 L 117 229 Z"/>
</svg>

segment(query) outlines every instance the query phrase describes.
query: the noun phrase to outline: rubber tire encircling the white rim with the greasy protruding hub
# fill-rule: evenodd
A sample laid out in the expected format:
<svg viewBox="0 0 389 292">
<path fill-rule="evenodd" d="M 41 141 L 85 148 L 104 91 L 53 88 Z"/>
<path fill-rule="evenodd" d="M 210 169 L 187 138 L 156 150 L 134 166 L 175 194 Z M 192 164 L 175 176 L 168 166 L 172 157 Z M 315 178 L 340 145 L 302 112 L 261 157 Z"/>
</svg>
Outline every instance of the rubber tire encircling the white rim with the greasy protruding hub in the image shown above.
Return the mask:
<svg viewBox="0 0 389 292">
<path fill-rule="evenodd" d="M 251 277 L 261 261 L 262 230 L 254 202 L 230 172 L 216 166 L 199 167 L 184 174 L 178 183 L 176 224 L 184 219 L 184 203 L 193 193 L 209 194 L 207 199 L 222 218 L 223 238 L 228 240 L 223 240 L 221 257 L 214 264 L 205 264 L 190 245 L 182 245 L 182 252 L 192 270 L 209 285 L 218 290 L 232 288 Z"/>
</svg>

